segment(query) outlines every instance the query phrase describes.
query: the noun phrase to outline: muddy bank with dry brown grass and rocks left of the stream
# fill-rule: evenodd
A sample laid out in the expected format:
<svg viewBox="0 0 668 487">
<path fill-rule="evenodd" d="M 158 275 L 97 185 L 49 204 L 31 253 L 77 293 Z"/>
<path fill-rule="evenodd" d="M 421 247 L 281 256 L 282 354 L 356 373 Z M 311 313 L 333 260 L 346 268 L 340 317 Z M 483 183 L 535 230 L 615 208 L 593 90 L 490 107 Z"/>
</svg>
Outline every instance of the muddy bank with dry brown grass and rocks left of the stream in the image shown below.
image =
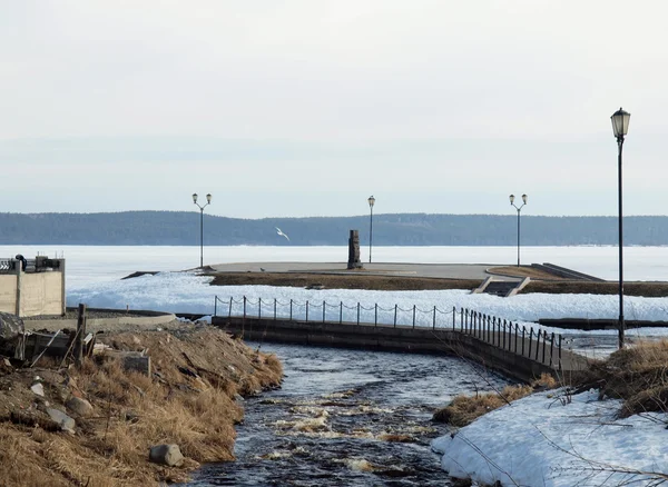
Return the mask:
<svg viewBox="0 0 668 487">
<path fill-rule="evenodd" d="M 14 368 L 0 360 L 3 485 L 184 480 L 202 463 L 233 459 L 240 396 L 274 388 L 282 378 L 275 356 L 212 327 L 100 334 L 100 341 L 144 350 L 151 357 L 150 376 L 124 370 L 108 354 L 80 368 L 52 359 L 40 360 L 39 368 Z M 178 445 L 183 465 L 149 463 L 149 448 L 160 444 Z"/>
</svg>

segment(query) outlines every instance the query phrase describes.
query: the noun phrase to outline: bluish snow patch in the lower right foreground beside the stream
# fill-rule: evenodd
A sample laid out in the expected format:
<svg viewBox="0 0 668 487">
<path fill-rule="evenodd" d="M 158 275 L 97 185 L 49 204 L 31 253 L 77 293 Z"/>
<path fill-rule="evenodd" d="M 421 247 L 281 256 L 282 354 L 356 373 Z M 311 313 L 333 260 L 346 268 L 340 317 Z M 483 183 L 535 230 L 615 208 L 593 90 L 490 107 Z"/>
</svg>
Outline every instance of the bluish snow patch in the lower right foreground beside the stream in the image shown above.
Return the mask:
<svg viewBox="0 0 668 487">
<path fill-rule="evenodd" d="M 648 486 L 667 475 L 668 415 L 616 419 L 620 401 L 598 391 L 539 392 L 435 439 L 454 477 L 503 486 Z M 664 479 L 668 483 L 668 478 Z"/>
</svg>

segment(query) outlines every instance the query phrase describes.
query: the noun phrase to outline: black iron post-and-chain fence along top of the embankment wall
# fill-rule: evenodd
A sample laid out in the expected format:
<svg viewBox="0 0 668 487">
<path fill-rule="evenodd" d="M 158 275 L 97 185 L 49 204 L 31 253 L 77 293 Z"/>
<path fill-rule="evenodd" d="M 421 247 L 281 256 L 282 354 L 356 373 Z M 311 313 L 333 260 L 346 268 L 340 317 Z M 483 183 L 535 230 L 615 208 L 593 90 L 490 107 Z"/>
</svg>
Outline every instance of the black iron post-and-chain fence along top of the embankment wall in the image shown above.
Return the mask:
<svg viewBox="0 0 668 487">
<path fill-rule="evenodd" d="M 294 299 L 281 301 L 278 299 L 263 300 L 262 298 L 248 299 L 220 299 L 215 297 L 214 316 L 264 318 L 273 320 L 295 320 L 321 324 L 354 324 L 365 326 L 393 326 L 412 328 L 445 329 L 465 334 L 482 340 L 493 347 L 511 351 L 531 360 L 556 367 L 561 370 L 562 336 L 548 334 L 544 329 L 527 328 L 518 322 L 512 322 L 498 317 L 489 316 L 468 308 L 453 307 L 449 310 L 433 306 L 422 309 L 418 306 L 403 308 L 394 305 L 383 308 L 375 304 L 365 307 L 360 302 L 353 306 L 327 304 L 323 301 L 299 302 Z"/>
</svg>

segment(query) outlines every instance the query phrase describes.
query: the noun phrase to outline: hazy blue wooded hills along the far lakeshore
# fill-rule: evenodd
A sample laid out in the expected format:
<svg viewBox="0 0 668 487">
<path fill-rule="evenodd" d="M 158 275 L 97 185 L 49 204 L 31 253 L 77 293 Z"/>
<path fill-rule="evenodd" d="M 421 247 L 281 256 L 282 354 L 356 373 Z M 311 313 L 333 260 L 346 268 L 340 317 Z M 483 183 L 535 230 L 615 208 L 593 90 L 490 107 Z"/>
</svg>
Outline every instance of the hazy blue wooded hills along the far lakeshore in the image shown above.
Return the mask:
<svg viewBox="0 0 668 487">
<path fill-rule="evenodd" d="M 0 213 L 0 245 L 199 245 L 199 212 Z M 625 245 L 668 245 L 668 217 L 625 217 Z M 277 235 L 275 227 L 289 236 Z M 370 217 L 239 219 L 204 215 L 206 246 L 369 245 Z M 521 217 L 523 246 L 617 245 L 617 217 Z M 517 245 L 517 215 L 373 216 L 374 246 Z"/>
</svg>

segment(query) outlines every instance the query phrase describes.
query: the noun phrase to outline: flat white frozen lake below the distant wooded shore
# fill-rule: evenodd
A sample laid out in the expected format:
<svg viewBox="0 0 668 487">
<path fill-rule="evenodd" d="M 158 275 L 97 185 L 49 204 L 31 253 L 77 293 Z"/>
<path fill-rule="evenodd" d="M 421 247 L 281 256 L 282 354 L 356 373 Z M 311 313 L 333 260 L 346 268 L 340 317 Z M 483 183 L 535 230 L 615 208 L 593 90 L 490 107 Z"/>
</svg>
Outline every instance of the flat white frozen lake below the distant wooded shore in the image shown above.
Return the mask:
<svg viewBox="0 0 668 487">
<path fill-rule="evenodd" d="M 552 262 L 603 279 L 617 279 L 618 249 L 523 247 L 523 264 Z M 65 257 L 68 284 L 114 280 L 136 270 L 184 270 L 199 266 L 197 246 L 0 246 L 0 257 L 17 254 Z M 344 262 L 347 247 L 205 247 L 204 264 L 252 261 Z M 362 261 L 369 248 L 362 248 Z M 374 247 L 374 262 L 517 264 L 517 247 Z M 626 280 L 668 280 L 668 247 L 625 248 Z"/>
</svg>

